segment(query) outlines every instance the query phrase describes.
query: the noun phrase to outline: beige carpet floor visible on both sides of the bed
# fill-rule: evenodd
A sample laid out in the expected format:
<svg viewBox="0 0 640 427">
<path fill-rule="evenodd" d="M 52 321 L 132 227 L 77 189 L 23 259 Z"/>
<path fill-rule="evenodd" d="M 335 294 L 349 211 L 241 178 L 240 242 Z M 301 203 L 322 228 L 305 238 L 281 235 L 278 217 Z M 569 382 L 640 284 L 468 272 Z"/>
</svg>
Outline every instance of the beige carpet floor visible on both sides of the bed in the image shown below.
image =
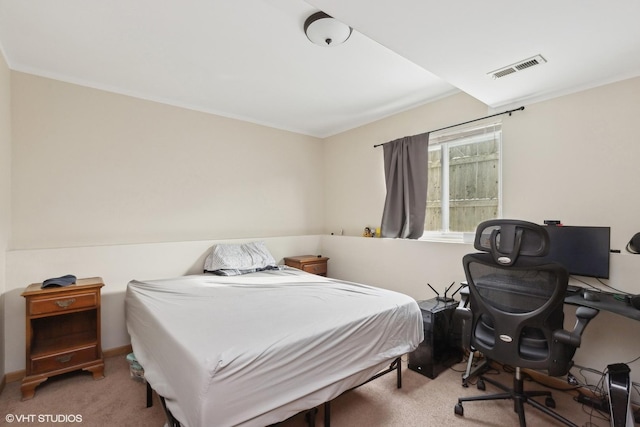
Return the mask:
<svg viewBox="0 0 640 427">
<path fill-rule="evenodd" d="M 20 401 L 20 383 L 7 384 L 0 395 L 0 425 L 162 427 L 165 417 L 157 397 L 154 395 L 152 408 L 145 407 L 145 385 L 130 378 L 124 356 L 108 358 L 105 364 L 104 379 L 94 381 L 90 374 L 82 372 L 52 378 L 36 389 L 33 399 L 24 402 Z M 441 373 L 435 380 L 406 369 L 406 363 L 403 366 L 402 389 L 395 387 L 395 374 L 390 374 L 348 392 L 332 402 L 331 424 L 334 427 L 518 426 L 510 401 L 469 402 L 464 405 L 464 417 L 454 415 L 458 396 L 485 393 L 475 386 L 461 386 L 462 364 Z M 497 378 L 510 382 L 510 376 L 504 373 Z M 525 384 L 525 389 L 533 388 L 540 387 Z M 486 393 L 494 391 L 487 385 Z M 609 425 L 605 420 L 590 417 L 570 394 L 554 391 L 554 397 L 556 410 L 576 424 Z M 560 425 L 529 406 L 525 411 L 530 427 Z M 82 422 L 42 423 L 37 419 L 40 415 L 79 415 Z M 22 416 L 23 422 L 16 419 L 7 423 L 11 416 Z M 25 422 L 25 417 L 31 417 L 34 422 Z M 305 425 L 302 415 L 281 423 L 281 427 Z M 323 426 L 322 409 L 316 426 Z"/>
</svg>

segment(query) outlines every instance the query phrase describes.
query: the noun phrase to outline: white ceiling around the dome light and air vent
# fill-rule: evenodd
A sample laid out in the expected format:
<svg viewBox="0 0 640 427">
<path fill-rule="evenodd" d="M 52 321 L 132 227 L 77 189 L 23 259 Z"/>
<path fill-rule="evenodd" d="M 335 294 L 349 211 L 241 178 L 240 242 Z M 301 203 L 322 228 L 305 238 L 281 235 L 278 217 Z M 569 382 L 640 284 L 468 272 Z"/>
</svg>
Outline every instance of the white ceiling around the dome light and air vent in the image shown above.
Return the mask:
<svg viewBox="0 0 640 427">
<path fill-rule="evenodd" d="M 351 38 L 309 42 L 317 10 Z M 639 16 L 638 0 L 0 0 L 0 46 L 13 70 L 326 137 L 457 90 L 501 110 L 638 76 Z"/>
</svg>

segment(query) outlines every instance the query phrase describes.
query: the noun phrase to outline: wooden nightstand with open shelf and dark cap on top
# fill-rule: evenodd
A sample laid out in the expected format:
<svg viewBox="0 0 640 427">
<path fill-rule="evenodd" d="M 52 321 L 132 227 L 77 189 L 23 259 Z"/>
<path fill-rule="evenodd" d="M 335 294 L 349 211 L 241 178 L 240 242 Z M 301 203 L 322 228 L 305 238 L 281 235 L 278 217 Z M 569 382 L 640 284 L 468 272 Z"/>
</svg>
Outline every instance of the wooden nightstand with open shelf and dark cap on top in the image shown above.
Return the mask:
<svg viewBox="0 0 640 427">
<path fill-rule="evenodd" d="M 83 369 L 104 377 L 100 341 L 100 277 L 78 279 L 65 287 L 42 289 L 33 283 L 26 299 L 26 376 L 22 400 L 49 377 Z"/>
</svg>

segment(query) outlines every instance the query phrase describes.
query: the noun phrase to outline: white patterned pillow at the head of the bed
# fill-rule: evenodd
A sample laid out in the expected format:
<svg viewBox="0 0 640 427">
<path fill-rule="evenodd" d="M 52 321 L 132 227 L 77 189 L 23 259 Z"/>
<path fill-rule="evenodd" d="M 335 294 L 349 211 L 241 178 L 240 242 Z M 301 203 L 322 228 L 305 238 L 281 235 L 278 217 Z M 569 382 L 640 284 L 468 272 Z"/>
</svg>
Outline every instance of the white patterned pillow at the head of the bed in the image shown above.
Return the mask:
<svg viewBox="0 0 640 427">
<path fill-rule="evenodd" d="M 219 244 L 213 247 L 204 262 L 205 272 L 219 272 L 236 275 L 275 267 L 273 258 L 264 242 Z M 237 272 L 234 273 L 234 270 Z"/>
</svg>

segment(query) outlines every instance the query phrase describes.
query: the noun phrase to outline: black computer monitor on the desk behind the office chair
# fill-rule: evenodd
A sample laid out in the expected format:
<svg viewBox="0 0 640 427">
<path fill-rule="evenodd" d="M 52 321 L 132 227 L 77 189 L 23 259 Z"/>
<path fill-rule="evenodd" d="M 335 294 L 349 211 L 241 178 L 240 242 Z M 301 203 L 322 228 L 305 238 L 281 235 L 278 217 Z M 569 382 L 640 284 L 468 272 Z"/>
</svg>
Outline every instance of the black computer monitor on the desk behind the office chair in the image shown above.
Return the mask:
<svg viewBox="0 0 640 427">
<path fill-rule="evenodd" d="M 554 226 L 549 233 L 549 254 L 545 259 L 558 262 L 569 274 L 609 278 L 610 227 Z"/>
</svg>

